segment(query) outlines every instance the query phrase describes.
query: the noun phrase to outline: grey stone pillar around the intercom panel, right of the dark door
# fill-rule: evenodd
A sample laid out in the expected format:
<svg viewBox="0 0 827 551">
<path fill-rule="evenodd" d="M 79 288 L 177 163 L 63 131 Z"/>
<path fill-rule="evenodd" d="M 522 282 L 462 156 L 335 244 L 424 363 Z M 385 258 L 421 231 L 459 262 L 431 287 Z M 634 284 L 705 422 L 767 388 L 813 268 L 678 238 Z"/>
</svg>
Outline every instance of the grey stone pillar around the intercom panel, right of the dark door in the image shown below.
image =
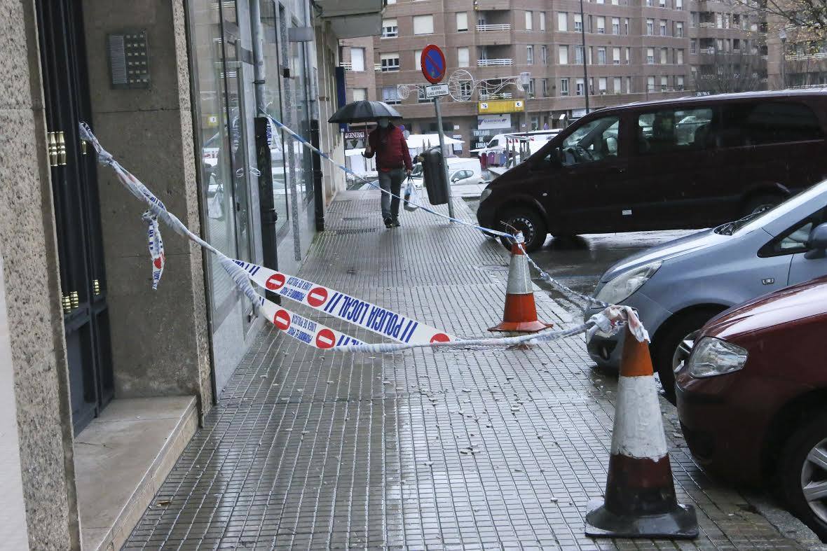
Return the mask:
<svg viewBox="0 0 827 551">
<path fill-rule="evenodd" d="M 93 131 L 200 233 L 184 0 L 84 0 Z M 151 87 L 110 87 L 106 36 L 146 30 Z M 151 289 L 145 207 L 98 169 L 115 396 L 197 395 L 212 403 L 202 250 L 161 226 L 166 267 Z"/>
</svg>

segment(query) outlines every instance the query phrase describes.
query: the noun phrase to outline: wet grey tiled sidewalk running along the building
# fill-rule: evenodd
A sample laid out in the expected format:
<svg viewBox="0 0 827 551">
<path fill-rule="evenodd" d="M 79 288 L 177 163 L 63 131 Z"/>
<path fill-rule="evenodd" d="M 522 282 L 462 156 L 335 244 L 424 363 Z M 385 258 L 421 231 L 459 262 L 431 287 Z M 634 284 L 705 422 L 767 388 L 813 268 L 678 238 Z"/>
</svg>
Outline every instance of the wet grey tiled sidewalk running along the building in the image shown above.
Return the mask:
<svg viewBox="0 0 827 551">
<path fill-rule="evenodd" d="M 376 192 L 337 197 L 300 275 L 456 335 L 488 335 L 504 301 L 500 245 L 420 212 L 385 230 L 378 203 Z M 544 320 L 572 321 L 537 297 Z M 699 509 L 700 538 L 586 538 L 615 388 L 582 338 L 370 356 L 321 353 L 268 328 L 126 548 L 798 549 L 696 468 L 666 402 L 676 489 Z"/>
</svg>

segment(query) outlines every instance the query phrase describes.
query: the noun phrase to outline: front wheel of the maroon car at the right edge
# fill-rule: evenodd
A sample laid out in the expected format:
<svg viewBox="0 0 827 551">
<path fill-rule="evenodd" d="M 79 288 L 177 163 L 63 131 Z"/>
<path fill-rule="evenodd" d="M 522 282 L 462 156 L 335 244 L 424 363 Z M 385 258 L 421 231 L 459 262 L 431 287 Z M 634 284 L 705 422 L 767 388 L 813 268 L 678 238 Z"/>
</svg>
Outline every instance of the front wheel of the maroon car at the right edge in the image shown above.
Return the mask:
<svg viewBox="0 0 827 551">
<path fill-rule="evenodd" d="M 827 539 L 827 413 L 810 419 L 787 440 L 778 482 L 791 511 Z"/>
</svg>

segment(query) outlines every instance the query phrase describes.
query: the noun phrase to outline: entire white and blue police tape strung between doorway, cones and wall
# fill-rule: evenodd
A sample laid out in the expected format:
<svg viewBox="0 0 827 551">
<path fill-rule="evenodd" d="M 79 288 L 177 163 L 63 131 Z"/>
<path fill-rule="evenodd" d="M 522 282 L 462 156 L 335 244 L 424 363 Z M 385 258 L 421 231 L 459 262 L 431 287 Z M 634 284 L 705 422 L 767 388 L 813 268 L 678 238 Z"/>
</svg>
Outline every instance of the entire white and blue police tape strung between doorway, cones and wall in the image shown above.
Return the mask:
<svg viewBox="0 0 827 551">
<path fill-rule="evenodd" d="M 273 120 L 272 118 L 270 120 Z M 275 123 L 275 120 L 273 120 Z M 278 125 L 277 125 L 278 126 Z M 284 126 L 280 126 L 286 131 L 289 131 Z M 504 337 L 498 339 L 471 339 L 471 340 L 457 340 L 456 337 L 448 335 L 447 333 L 438 330 L 427 324 L 415 321 L 412 318 L 402 316 L 390 311 L 381 306 L 370 304 L 369 302 L 361 301 L 356 297 L 350 297 L 346 293 L 338 292 L 330 287 L 318 285 L 317 283 L 309 282 L 302 278 L 291 276 L 287 273 L 278 272 L 269 268 L 264 268 L 256 264 L 245 263 L 239 260 L 233 260 L 223 254 L 220 250 L 210 245 L 207 241 L 202 240 L 198 235 L 190 231 L 184 223 L 174 216 L 170 211 L 167 211 L 163 202 L 150 191 L 149 188 L 141 183 L 132 173 L 124 169 L 123 166 L 117 162 L 116 159 L 109 154 L 107 150 L 103 149 L 98 139 L 93 135 L 92 131 L 85 123 L 79 125 L 80 137 L 93 145 L 94 150 L 98 154 L 98 161 L 101 164 L 111 167 L 117 174 L 118 179 L 126 186 L 126 188 L 137 198 L 146 202 L 149 210 L 144 212 L 142 219 L 146 221 L 148 226 L 147 235 L 149 237 L 149 250 L 152 259 L 152 287 L 156 289 L 165 266 L 165 254 L 163 240 L 161 240 L 160 227 L 158 221 L 164 221 L 167 226 L 170 226 L 180 235 L 187 237 L 194 241 L 203 249 L 218 256 L 219 263 L 232 278 L 236 286 L 248 297 L 253 303 L 256 311 L 270 321 L 277 329 L 286 333 L 296 340 L 304 342 L 317 349 L 334 349 L 350 352 L 368 352 L 368 353 L 389 353 L 404 349 L 422 348 L 422 347 L 454 347 L 454 348 L 473 348 L 477 346 L 508 346 L 513 344 L 534 344 L 541 342 L 551 342 L 559 340 L 571 335 L 578 335 L 580 333 L 587 333 L 593 335 L 595 332 L 614 333 L 619 330 L 621 326 L 628 325 L 638 340 L 648 340 L 646 330 L 640 324 L 634 311 L 624 306 L 610 306 L 604 311 L 591 316 L 591 318 L 581 325 L 567 329 L 567 330 L 547 330 L 534 335 L 520 335 L 516 337 Z M 291 135 L 294 132 L 289 131 Z M 296 135 L 300 138 L 300 136 Z M 325 159 L 330 160 L 326 154 L 313 148 L 304 139 L 302 143 L 311 147 L 318 154 L 322 154 Z M 334 163 L 335 164 L 335 163 Z M 337 165 L 340 166 L 341 165 Z M 341 167 L 344 169 L 344 167 Z M 347 170 L 347 169 L 345 169 Z M 360 177 L 361 178 L 361 177 Z M 385 190 L 382 190 L 383 192 Z M 452 221 L 457 221 L 464 226 L 471 226 L 477 230 L 484 230 L 492 235 L 501 235 L 512 237 L 509 234 L 498 232 L 496 230 L 489 230 L 481 228 L 480 226 L 472 225 L 466 221 L 457 220 L 451 216 L 445 216 L 438 212 L 425 208 L 426 211 L 431 212 L 437 216 L 442 216 Z M 530 259 L 529 259 L 530 260 Z M 535 268 L 539 267 L 533 263 Z M 544 273 L 540 270 L 541 273 Z M 549 277 L 553 281 L 552 278 Z M 301 316 L 293 311 L 289 311 L 283 306 L 270 302 L 265 297 L 262 297 L 252 287 L 251 281 L 257 285 L 269 289 L 274 292 L 279 292 L 283 297 L 300 302 L 305 306 L 310 306 L 318 311 L 323 311 L 325 314 L 337 317 L 340 320 L 348 321 L 355 325 L 359 325 L 364 329 L 370 330 L 379 335 L 383 335 L 391 340 L 396 340 L 396 343 L 376 343 L 367 344 L 361 340 L 355 339 L 350 335 L 346 335 L 338 330 L 333 330 L 316 321 L 312 321 L 304 316 Z M 567 287 L 562 286 L 567 289 Z M 569 290 L 571 291 L 571 290 Z M 571 291 L 574 292 L 574 291 Z M 579 295 L 579 293 L 574 292 Z M 588 297 L 590 299 L 590 297 Z M 593 299 L 590 299 L 593 300 Z"/>
</svg>

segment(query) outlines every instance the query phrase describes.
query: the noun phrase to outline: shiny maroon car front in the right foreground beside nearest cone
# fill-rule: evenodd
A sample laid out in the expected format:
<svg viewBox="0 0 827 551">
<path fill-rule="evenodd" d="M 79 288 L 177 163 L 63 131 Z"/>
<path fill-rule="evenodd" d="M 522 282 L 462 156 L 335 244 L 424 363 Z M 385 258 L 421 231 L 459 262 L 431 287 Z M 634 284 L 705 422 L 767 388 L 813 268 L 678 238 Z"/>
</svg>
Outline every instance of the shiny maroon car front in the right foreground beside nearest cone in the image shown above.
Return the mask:
<svg viewBox="0 0 827 551">
<path fill-rule="evenodd" d="M 681 426 L 707 471 L 775 482 L 827 539 L 827 277 L 724 311 L 676 373 Z"/>
</svg>

